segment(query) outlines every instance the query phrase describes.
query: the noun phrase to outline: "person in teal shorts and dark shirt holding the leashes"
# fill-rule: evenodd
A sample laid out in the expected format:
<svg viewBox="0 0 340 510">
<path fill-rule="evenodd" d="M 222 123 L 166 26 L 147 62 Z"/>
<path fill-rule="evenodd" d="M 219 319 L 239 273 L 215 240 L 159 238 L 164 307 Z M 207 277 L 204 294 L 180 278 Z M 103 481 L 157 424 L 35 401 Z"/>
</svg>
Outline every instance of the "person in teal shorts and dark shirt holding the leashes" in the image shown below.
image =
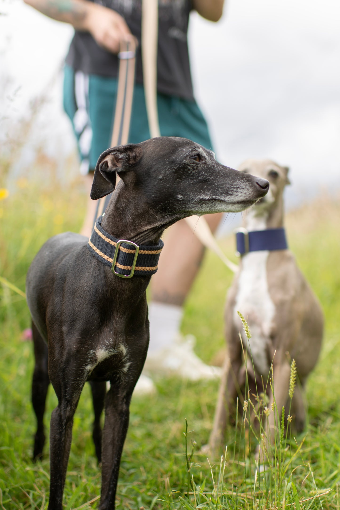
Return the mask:
<svg viewBox="0 0 340 510">
<path fill-rule="evenodd" d="M 89 198 L 93 171 L 110 145 L 116 104 L 119 45 L 136 37 L 136 85 L 129 143 L 150 138 L 141 59 L 141 0 L 24 0 L 47 16 L 70 23 L 75 34 L 64 70 L 64 109 L 70 117 L 88 191 L 81 233 L 90 236 L 96 202 Z M 190 73 L 187 32 L 189 14 L 196 10 L 211 21 L 222 15 L 224 0 L 159 0 L 158 112 L 162 136 L 189 138 L 211 149 L 206 121 L 195 101 Z M 205 216 L 215 232 L 221 214 Z M 186 251 L 182 250 L 186 246 Z M 190 379 L 215 377 L 184 341 L 179 328 L 182 307 L 199 270 L 204 247 L 185 220 L 175 223 L 151 279 L 150 345 L 146 369 Z"/>
</svg>

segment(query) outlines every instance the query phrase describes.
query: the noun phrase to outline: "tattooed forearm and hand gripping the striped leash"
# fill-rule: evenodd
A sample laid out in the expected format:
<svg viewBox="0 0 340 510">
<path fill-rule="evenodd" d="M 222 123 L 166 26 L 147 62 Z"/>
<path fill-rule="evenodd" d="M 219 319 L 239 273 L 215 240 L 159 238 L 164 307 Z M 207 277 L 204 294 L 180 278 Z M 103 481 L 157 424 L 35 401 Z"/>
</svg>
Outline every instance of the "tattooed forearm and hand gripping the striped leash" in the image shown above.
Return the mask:
<svg viewBox="0 0 340 510">
<path fill-rule="evenodd" d="M 50 18 L 70 23 L 75 30 L 90 32 L 99 46 L 112 53 L 118 53 L 121 39 L 132 37 L 124 18 L 116 11 L 87 0 L 24 2 Z"/>
</svg>

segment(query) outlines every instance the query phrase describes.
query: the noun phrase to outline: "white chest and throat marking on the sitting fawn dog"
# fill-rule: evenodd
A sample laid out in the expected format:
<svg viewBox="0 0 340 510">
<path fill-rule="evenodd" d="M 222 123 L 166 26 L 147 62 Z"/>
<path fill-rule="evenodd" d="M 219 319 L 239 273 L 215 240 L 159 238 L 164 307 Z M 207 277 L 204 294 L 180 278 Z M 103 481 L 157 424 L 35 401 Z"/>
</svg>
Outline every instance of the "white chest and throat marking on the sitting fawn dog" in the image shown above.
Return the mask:
<svg viewBox="0 0 340 510">
<path fill-rule="evenodd" d="M 259 225 L 258 222 L 256 222 L 257 228 L 251 228 L 251 226 L 247 225 L 248 230 L 266 228 L 266 226 Z M 233 312 L 234 323 L 240 328 L 240 331 L 242 329 L 241 321 L 237 311 L 239 310 L 248 321 L 252 334 L 249 347 L 254 367 L 258 374 L 264 377 L 268 376 L 270 370 L 267 345 L 270 341 L 270 331 L 275 315 L 275 305 L 268 289 L 268 255 L 269 251 L 264 250 L 253 251 L 243 256 L 242 271 L 239 276 L 239 286 Z M 243 331 L 242 340 L 244 346 L 246 346 L 247 338 Z"/>
</svg>

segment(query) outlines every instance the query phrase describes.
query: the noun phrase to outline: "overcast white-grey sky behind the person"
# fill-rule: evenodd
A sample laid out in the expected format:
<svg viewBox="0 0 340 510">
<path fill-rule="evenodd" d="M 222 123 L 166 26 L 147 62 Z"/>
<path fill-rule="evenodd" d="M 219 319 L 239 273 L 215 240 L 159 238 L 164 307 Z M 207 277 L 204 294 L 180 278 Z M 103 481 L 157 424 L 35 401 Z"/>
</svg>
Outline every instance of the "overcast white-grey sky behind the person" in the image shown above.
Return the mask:
<svg viewBox="0 0 340 510">
<path fill-rule="evenodd" d="M 21 0 L 5 0 L 0 11 L 7 14 L 0 16 L 4 134 L 46 88 L 72 29 Z M 192 14 L 194 89 L 220 161 L 236 167 L 270 157 L 289 165 L 292 196 L 340 187 L 339 25 L 338 0 L 229 0 L 217 24 Z M 35 133 L 56 154 L 74 146 L 61 83 L 59 76 Z"/>
</svg>

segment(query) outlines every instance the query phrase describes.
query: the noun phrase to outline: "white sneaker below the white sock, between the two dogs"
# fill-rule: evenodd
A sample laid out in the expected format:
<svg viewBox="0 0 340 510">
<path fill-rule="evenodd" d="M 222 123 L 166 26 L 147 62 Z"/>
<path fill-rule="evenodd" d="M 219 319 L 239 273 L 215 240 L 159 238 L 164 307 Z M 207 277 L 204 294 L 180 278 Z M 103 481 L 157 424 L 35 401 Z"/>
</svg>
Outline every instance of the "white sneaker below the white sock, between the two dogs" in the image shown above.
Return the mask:
<svg viewBox="0 0 340 510">
<path fill-rule="evenodd" d="M 221 377 L 219 367 L 205 365 L 194 352 L 195 337 L 187 335 L 178 338 L 171 347 L 149 352 L 144 370 L 151 373 L 170 376 L 177 375 L 193 381 L 199 379 L 216 379 Z"/>
</svg>

